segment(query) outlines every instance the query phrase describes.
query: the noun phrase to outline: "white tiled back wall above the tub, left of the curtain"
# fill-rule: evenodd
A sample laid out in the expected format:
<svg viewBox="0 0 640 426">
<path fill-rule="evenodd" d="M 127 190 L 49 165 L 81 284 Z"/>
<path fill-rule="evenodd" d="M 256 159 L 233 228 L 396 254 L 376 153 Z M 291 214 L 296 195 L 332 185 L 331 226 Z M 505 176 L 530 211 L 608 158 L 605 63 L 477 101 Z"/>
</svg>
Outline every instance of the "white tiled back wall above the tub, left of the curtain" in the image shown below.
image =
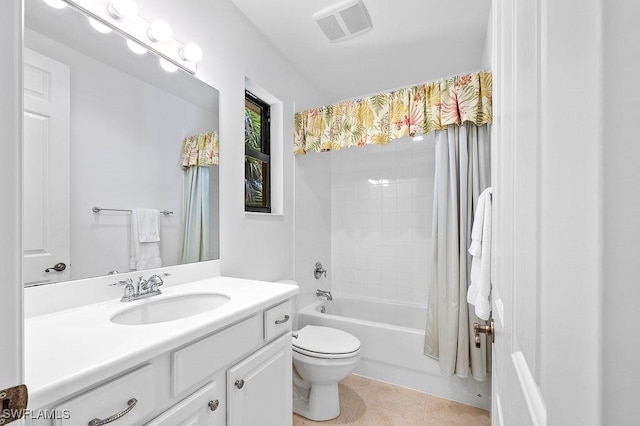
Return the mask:
<svg viewBox="0 0 640 426">
<path fill-rule="evenodd" d="M 431 134 L 331 153 L 334 293 L 426 304 L 434 146 Z"/>
</svg>

